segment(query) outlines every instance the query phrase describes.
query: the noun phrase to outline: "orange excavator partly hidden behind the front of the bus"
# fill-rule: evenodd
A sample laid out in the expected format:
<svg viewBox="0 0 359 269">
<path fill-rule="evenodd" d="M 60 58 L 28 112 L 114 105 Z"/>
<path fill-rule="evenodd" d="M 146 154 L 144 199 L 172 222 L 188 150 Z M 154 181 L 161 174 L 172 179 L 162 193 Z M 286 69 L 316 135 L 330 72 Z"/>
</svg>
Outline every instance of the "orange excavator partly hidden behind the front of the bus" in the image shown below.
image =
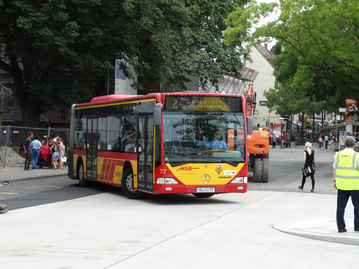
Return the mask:
<svg viewBox="0 0 359 269">
<path fill-rule="evenodd" d="M 247 117 L 253 119 L 256 109 L 256 92 L 253 91 L 253 83 L 248 84 L 248 90 L 244 92 L 246 99 Z M 251 128 L 248 126 L 248 128 Z M 253 128 L 253 126 L 252 126 Z M 253 130 L 251 135 L 247 136 L 248 143 L 248 172 L 253 172 L 255 182 L 268 182 L 269 177 L 269 132 L 265 130 Z"/>
</svg>

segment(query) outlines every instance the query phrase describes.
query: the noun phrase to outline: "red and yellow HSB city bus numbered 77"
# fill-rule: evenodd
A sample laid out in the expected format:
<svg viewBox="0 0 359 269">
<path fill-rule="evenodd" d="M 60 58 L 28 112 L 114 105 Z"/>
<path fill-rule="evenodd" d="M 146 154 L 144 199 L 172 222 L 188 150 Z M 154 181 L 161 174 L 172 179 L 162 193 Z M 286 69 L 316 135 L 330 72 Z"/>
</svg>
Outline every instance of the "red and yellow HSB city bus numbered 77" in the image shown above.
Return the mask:
<svg viewBox="0 0 359 269">
<path fill-rule="evenodd" d="M 71 108 L 69 178 L 145 194 L 247 192 L 242 95 L 107 95 Z M 249 126 L 249 128 L 247 128 Z M 239 130 L 239 131 L 238 131 Z M 217 139 L 214 140 L 214 137 Z"/>
</svg>

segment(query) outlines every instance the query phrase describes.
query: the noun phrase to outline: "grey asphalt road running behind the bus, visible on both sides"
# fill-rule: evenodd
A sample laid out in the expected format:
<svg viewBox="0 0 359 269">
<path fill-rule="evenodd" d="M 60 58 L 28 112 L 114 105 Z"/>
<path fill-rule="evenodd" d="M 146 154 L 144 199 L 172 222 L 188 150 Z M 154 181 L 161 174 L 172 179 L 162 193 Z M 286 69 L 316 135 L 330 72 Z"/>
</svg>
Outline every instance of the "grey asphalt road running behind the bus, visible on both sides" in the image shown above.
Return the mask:
<svg viewBox="0 0 359 269">
<path fill-rule="evenodd" d="M 336 190 L 333 188 L 332 176 L 332 162 L 335 152 L 318 150 L 315 145 L 313 149 L 315 151 L 314 159 L 316 164 L 316 193 L 336 195 Z M 309 192 L 311 189 L 310 178 L 307 180 L 306 185 L 304 185 L 303 191 L 298 189 L 302 182 L 303 151 L 304 146 L 293 146 L 292 148 L 283 149 L 280 146 L 277 146 L 275 149 L 270 148 L 270 175 L 268 183 L 253 182 L 253 173 L 249 173 L 248 192 L 251 190 Z M 8 210 L 55 203 L 105 192 L 118 192 L 119 195 L 123 195 L 120 188 L 105 184 L 93 183 L 88 188 L 81 188 L 78 181 L 67 177 L 19 182 L 0 188 L 1 190 L 6 188 L 6 193 L 9 193 L 0 195 L 1 203 L 7 204 Z M 166 197 L 165 199 L 167 199 L 169 198 L 168 196 L 171 195 L 148 198 L 156 200 Z M 187 196 L 192 198 L 190 194 L 172 196 L 176 198 L 186 198 Z"/>
</svg>

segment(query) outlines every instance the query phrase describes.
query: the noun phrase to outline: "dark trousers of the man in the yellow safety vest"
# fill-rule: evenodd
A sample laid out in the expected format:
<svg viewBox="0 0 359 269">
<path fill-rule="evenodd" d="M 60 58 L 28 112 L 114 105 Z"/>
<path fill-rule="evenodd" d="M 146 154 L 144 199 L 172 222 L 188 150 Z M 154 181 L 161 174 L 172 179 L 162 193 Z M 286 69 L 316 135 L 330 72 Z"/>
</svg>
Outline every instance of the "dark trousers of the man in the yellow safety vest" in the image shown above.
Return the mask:
<svg viewBox="0 0 359 269">
<path fill-rule="evenodd" d="M 349 196 L 354 206 L 354 230 L 359 229 L 359 190 L 340 190 L 337 196 L 337 227 L 338 230 L 345 229 L 344 212 L 348 204 Z"/>
</svg>

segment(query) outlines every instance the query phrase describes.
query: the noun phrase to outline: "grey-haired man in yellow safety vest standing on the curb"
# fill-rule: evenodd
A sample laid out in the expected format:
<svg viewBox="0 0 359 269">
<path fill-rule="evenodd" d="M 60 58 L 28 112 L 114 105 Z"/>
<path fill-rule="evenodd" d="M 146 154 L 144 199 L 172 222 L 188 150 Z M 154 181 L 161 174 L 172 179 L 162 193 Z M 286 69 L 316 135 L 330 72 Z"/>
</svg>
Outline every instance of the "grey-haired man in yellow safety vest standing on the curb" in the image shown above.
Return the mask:
<svg viewBox="0 0 359 269">
<path fill-rule="evenodd" d="M 336 220 L 338 232 L 346 232 L 344 211 L 349 196 L 354 206 L 354 231 L 359 232 L 359 153 L 354 151 L 355 138 L 344 140 L 345 148 L 334 156 L 334 188 L 338 190 Z"/>
</svg>

